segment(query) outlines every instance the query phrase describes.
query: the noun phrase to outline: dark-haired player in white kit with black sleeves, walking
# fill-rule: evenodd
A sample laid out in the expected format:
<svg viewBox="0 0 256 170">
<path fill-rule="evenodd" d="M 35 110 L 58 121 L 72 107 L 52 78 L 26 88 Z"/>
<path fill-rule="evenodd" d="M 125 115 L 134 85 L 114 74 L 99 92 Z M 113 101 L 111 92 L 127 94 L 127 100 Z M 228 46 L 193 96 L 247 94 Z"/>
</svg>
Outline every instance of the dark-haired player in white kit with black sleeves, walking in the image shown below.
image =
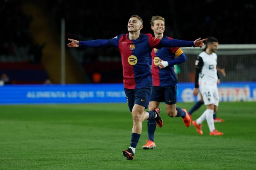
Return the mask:
<svg viewBox="0 0 256 170">
<path fill-rule="evenodd" d="M 198 87 L 200 87 L 200 93 L 202 94 L 204 105 L 206 105 L 206 110 L 192 124 L 195 126 L 197 132 L 202 135 L 202 122 L 206 119 L 210 135 L 223 135 L 223 133 L 215 129 L 213 121 L 213 113 L 217 111 L 219 104 L 219 93 L 217 89 L 219 76 L 216 69 L 217 55 L 215 53 L 218 49 L 218 39 L 208 37 L 206 44 L 206 50 L 200 53 L 195 61 L 194 88 L 194 95 L 197 96 L 199 93 Z"/>
</svg>

